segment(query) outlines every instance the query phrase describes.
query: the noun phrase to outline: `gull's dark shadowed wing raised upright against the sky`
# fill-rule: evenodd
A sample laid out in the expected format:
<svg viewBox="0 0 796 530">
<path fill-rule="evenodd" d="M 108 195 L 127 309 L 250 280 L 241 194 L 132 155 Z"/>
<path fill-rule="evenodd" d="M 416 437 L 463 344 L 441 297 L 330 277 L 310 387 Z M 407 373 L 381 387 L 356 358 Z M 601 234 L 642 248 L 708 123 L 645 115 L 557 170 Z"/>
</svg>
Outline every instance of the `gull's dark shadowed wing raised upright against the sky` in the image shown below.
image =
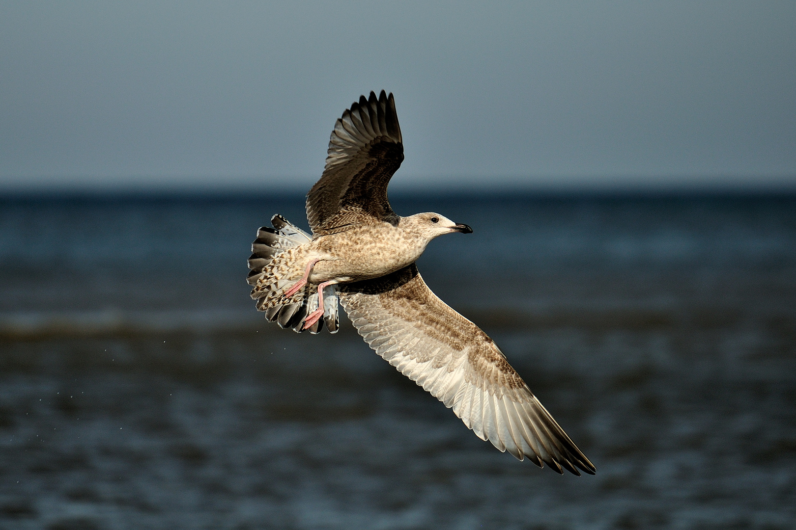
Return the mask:
<svg viewBox="0 0 796 530">
<path fill-rule="evenodd" d="M 394 222 L 387 184 L 404 161 L 392 94 L 360 96 L 334 124 L 321 180 L 306 195 L 306 217 L 316 235 L 352 226 Z"/>
</svg>

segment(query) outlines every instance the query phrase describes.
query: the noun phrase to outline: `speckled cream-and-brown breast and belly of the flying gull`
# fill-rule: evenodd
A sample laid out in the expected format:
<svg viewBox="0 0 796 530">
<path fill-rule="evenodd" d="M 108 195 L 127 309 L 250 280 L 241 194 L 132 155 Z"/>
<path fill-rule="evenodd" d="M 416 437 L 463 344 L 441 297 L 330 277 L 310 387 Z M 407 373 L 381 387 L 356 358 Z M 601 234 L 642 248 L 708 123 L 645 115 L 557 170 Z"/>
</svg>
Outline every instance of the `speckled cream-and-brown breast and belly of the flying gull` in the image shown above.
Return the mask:
<svg viewBox="0 0 796 530">
<path fill-rule="evenodd" d="M 383 222 L 322 236 L 310 245 L 322 259 L 314 266 L 310 281 L 320 283 L 365 280 L 395 272 L 416 261 L 427 241 L 400 225 Z"/>
</svg>

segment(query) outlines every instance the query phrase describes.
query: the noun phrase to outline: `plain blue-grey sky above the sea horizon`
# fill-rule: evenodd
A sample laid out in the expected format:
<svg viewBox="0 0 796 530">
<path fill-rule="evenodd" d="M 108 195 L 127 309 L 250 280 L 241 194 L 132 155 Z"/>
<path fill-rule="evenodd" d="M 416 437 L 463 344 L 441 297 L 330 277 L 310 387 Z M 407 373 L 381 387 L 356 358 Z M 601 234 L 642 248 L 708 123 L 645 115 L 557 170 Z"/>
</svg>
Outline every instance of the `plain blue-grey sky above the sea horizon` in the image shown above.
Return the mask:
<svg viewBox="0 0 796 530">
<path fill-rule="evenodd" d="M 0 2 L 0 189 L 304 190 L 382 88 L 396 188 L 793 187 L 794 65 L 790 0 Z"/>
</svg>

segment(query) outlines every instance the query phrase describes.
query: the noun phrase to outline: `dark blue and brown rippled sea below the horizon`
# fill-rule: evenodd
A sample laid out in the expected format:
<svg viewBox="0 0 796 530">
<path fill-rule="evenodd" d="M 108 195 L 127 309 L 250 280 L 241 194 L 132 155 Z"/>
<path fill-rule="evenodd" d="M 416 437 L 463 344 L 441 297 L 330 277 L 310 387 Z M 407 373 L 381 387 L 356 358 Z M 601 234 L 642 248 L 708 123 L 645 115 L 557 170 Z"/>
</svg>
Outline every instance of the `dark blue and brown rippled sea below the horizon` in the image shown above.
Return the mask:
<svg viewBox="0 0 796 530">
<path fill-rule="evenodd" d="M 301 197 L 0 201 L 0 528 L 796 528 L 796 197 L 394 199 L 597 466 L 482 442 L 345 323 L 263 321 Z"/>
</svg>

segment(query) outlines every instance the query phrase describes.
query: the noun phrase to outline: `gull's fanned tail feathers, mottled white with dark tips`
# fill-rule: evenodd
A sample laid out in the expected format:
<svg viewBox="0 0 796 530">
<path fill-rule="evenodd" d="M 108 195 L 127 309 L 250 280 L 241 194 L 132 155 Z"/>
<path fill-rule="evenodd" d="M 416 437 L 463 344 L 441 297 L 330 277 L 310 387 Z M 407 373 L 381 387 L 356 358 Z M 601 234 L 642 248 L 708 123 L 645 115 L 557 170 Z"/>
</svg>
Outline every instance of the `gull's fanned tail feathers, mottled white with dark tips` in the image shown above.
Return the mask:
<svg viewBox="0 0 796 530">
<path fill-rule="evenodd" d="M 271 218 L 273 228 L 263 226 L 257 230 L 257 238 L 252 243 L 252 255 L 248 259 L 250 270 L 246 281 L 252 285 L 252 298 L 257 301 L 257 310 L 265 311 L 265 318 L 276 322 L 279 327 L 303 331 L 304 319 L 318 308 L 318 288 L 307 284 L 290 300 L 282 300 L 281 293 L 295 283 L 293 280 L 279 279 L 271 261 L 279 254 L 312 240 L 310 234 L 293 225 L 281 215 Z M 339 327 L 338 292 L 330 285 L 323 292 L 323 318 L 309 328 L 310 333 L 320 333 L 326 323 L 330 333 L 337 333 Z"/>
</svg>

